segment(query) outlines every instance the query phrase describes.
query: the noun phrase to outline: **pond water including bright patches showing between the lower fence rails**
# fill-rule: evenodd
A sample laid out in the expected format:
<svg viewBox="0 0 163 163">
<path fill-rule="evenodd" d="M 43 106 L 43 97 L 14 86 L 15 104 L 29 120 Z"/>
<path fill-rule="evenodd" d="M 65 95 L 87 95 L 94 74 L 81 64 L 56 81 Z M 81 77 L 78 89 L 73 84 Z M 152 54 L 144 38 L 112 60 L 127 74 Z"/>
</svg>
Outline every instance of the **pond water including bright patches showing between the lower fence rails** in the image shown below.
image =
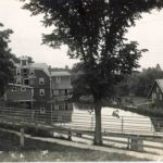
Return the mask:
<svg viewBox="0 0 163 163">
<path fill-rule="evenodd" d="M 66 113 L 65 113 L 66 115 Z M 68 114 L 70 115 L 70 114 Z M 95 130 L 95 112 L 90 105 L 85 104 L 73 104 L 73 110 L 71 113 L 71 121 L 64 123 L 65 117 L 59 117 L 60 122 L 58 125 L 62 125 L 65 128 L 76 129 L 76 130 Z M 102 121 L 102 133 L 114 133 L 114 134 L 130 134 L 138 136 L 155 136 L 162 135 L 162 131 L 155 130 L 155 120 L 139 115 L 129 111 L 123 111 L 115 108 L 102 108 L 101 111 Z M 158 120 L 156 120 L 158 121 Z M 158 121 L 160 123 L 160 120 Z M 58 134 L 54 134 L 58 136 Z M 59 134 L 59 136 L 65 136 Z M 109 141 L 103 141 L 108 146 L 127 148 L 127 138 L 125 137 L 114 137 L 114 136 L 103 136 L 104 139 Z M 72 136 L 73 141 L 79 141 L 83 143 L 93 143 L 93 135 L 76 135 Z M 117 143 L 116 143 L 117 141 Z M 122 142 L 122 143 L 121 143 Z M 162 153 L 162 143 L 160 142 L 149 142 L 143 141 L 147 146 L 156 146 L 159 149 L 148 149 L 146 151 Z"/>
</svg>

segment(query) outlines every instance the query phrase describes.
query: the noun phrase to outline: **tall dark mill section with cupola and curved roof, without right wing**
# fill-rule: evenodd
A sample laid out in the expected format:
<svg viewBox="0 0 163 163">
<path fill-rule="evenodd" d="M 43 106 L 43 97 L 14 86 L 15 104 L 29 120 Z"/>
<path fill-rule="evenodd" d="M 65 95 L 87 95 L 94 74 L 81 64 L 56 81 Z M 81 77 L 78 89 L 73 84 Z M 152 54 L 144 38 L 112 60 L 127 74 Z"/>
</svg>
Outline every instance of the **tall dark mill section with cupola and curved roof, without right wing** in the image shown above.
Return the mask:
<svg viewBox="0 0 163 163">
<path fill-rule="evenodd" d="M 14 79 L 17 85 L 33 88 L 33 105 L 29 108 L 37 114 L 50 112 L 50 74 L 46 63 L 29 63 L 27 57 L 20 58 L 20 63 L 15 64 Z"/>
</svg>

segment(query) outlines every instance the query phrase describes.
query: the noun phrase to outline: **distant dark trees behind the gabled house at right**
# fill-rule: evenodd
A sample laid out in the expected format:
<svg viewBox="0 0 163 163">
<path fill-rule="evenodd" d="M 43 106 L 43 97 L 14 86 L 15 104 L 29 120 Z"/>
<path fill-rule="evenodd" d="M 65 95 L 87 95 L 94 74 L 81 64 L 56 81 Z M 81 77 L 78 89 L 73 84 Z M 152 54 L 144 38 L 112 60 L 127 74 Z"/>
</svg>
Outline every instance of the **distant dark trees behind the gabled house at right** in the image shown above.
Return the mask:
<svg viewBox="0 0 163 163">
<path fill-rule="evenodd" d="M 115 95 L 147 97 L 154 80 L 161 78 L 163 78 L 163 71 L 158 67 L 134 72 L 124 82 L 115 86 Z"/>
</svg>

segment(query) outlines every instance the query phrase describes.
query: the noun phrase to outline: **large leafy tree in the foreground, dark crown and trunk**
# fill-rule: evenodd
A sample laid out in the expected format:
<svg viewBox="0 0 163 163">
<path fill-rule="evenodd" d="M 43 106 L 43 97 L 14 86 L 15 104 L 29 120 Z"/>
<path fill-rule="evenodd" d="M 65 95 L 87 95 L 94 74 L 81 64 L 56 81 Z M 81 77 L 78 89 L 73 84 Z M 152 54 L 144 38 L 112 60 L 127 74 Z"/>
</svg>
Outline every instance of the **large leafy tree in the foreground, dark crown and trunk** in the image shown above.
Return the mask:
<svg viewBox="0 0 163 163">
<path fill-rule="evenodd" d="M 134 68 L 145 49 L 128 41 L 125 34 L 141 13 L 161 10 L 162 0 L 23 0 L 33 15 L 43 14 L 45 26 L 53 26 L 43 35 L 43 43 L 52 48 L 68 46 L 68 55 L 79 59 L 74 84 L 93 97 L 96 131 L 100 134 L 101 99 L 113 95 L 113 86 Z M 98 135 L 97 134 L 97 135 Z M 96 135 L 96 136 L 97 136 Z M 97 136 L 98 137 L 98 136 Z M 97 142 L 100 143 L 100 137 Z"/>
</svg>

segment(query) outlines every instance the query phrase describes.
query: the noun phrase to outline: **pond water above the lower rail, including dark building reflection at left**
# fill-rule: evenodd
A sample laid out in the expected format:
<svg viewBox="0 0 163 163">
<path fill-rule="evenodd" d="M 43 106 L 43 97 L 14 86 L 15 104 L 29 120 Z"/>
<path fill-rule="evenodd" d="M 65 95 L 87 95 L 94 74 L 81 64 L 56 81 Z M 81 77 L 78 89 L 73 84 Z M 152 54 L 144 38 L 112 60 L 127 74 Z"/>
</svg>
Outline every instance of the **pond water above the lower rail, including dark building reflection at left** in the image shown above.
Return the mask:
<svg viewBox="0 0 163 163">
<path fill-rule="evenodd" d="M 68 103 L 66 110 L 61 109 L 61 105 L 55 105 L 53 112 L 54 122 L 64 123 L 66 127 L 73 129 L 95 130 L 95 111 L 92 105 Z M 103 131 L 131 133 L 137 135 L 152 135 L 155 130 L 159 131 L 156 126 L 161 124 L 154 118 L 109 106 L 102 108 L 101 121 Z"/>
</svg>

